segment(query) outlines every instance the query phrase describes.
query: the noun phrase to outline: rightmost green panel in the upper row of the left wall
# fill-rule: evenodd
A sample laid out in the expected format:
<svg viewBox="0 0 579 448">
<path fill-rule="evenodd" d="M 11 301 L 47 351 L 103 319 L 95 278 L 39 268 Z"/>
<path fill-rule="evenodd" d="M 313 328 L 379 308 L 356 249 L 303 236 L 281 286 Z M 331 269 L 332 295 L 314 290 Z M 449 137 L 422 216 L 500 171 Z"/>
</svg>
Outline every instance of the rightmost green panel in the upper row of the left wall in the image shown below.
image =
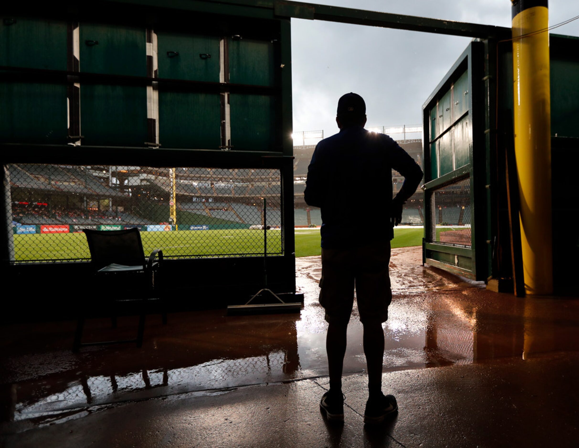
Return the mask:
<svg viewBox="0 0 579 448">
<path fill-rule="evenodd" d="M 229 81 L 234 84 L 273 86 L 273 43 L 242 39 L 229 41 Z"/>
</svg>

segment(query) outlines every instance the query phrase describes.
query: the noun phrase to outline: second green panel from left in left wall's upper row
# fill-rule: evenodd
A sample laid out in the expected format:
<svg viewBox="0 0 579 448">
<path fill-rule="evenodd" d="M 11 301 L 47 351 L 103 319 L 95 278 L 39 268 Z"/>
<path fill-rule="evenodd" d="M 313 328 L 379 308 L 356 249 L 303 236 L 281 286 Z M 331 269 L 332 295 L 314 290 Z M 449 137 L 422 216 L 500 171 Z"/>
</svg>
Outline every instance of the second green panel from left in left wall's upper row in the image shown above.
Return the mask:
<svg viewBox="0 0 579 448">
<path fill-rule="evenodd" d="M 80 71 L 146 76 L 145 27 L 81 23 Z"/>
</svg>

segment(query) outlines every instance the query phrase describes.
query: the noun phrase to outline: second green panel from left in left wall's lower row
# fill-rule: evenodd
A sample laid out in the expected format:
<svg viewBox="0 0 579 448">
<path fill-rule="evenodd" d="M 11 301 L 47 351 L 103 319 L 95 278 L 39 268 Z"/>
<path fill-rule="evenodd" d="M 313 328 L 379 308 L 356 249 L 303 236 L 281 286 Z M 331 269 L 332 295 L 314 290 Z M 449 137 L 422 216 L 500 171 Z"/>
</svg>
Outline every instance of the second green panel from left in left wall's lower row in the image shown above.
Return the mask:
<svg viewBox="0 0 579 448">
<path fill-rule="evenodd" d="M 144 146 L 147 136 L 146 89 L 82 85 L 80 133 L 83 145 Z"/>
</svg>

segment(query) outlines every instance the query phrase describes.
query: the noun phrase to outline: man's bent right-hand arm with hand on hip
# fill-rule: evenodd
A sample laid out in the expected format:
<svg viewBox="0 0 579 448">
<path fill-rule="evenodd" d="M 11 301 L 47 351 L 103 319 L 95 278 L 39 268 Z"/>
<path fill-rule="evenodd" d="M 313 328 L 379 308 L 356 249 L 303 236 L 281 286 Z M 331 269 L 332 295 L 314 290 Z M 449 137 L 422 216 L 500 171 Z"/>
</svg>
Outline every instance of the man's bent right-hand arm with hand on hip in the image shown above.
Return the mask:
<svg viewBox="0 0 579 448">
<path fill-rule="evenodd" d="M 391 153 L 392 167 L 404 176 L 404 183 L 392 201 L 392 226 L 402 221 L 402 205 L 416 192 L 424 173 L 408 153 L 396 142 Z"/>
</svg>

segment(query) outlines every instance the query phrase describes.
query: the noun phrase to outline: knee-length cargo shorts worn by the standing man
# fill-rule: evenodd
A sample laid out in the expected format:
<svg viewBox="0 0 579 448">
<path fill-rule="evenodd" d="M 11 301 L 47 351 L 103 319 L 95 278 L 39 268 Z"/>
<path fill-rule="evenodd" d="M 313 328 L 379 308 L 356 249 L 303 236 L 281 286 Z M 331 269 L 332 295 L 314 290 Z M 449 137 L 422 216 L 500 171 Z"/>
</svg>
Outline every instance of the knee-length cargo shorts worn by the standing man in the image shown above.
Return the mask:
<svg viewBox="0 0 579 448">
<path fill-rule="evenodd" d="M 390 241 L 352 249 L 322 248 L 320 304 L 328 322 L 350 320 L 354 285 L 360 321 L 386 322 L 392 300 Z"/>
</svg>

